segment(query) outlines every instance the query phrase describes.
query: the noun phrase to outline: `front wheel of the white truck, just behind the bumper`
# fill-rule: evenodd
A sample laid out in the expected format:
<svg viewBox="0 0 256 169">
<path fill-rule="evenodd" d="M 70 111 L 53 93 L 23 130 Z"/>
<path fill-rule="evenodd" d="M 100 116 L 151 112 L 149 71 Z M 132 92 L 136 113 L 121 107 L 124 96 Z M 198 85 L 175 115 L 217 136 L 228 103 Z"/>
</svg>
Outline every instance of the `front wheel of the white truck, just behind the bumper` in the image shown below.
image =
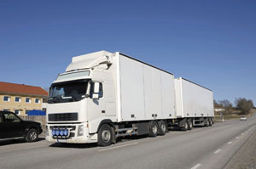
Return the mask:
<svg viewBox="0 0 256 169">
<path fill-rule="evenodd" d="M 103 124 L 98 132 L 98 145 L 108 146 L 112 144 L 113 132 L 108 124 Z"/>
</svg>

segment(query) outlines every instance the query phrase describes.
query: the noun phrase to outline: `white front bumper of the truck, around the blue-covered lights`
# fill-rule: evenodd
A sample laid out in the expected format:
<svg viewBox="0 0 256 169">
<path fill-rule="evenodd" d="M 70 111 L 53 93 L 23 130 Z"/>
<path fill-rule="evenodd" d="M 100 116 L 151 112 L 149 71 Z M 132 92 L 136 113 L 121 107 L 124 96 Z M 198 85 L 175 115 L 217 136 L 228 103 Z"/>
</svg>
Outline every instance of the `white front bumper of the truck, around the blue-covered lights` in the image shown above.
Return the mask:
<svg viewBox="0 0 256 169">
<path fill-rule="evenodd" d="M 83 135 L 79 136 L 79 126 L 83 125 Z M 46 135 L 46 140 L 50 143 L 67 143 L 67 144 L 90 144 L 97 143 L 97 133 L 89 134 L 89 128 L 87 123 L 79 124 L 48 124 L 48 134 Z M 52 128 L 61 127 L 61 128 L 73 128 L 69 130 L 68 138 L 54 138 L 52 135 Z"/>
</svg>

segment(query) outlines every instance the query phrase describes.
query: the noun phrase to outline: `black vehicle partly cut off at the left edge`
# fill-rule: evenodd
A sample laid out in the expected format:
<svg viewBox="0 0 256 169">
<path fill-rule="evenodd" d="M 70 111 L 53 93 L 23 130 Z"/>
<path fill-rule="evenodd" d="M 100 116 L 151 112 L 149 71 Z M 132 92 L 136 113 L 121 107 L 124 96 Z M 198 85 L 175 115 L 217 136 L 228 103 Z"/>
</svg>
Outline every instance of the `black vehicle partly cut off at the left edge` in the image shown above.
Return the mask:
<svg viewBox="0 0 256 169">
<path fill-rule="evenodd" d="M 41 123 L 23 121 L 10 111 L 0 111 L 0 141 L 24 138 L 27 142 L 35 142 L 42 132 Z"/>
</svg>

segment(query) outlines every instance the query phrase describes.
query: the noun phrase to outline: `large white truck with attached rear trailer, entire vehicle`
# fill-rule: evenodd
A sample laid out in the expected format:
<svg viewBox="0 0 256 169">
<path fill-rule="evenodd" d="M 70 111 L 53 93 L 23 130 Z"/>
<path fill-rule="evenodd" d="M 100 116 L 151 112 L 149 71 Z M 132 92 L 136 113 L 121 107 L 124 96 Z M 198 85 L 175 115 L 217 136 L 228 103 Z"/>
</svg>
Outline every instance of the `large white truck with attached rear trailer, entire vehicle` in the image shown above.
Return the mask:
<svg viewBox="0 0 256 169">
<path fill-rule="evenodd" d="M 108 146 L 127 135 L 165 135 L 213 124 L 212 91 L 125 54 L 73 57 L 49 88 L 46 139 Z"/>
</svg>

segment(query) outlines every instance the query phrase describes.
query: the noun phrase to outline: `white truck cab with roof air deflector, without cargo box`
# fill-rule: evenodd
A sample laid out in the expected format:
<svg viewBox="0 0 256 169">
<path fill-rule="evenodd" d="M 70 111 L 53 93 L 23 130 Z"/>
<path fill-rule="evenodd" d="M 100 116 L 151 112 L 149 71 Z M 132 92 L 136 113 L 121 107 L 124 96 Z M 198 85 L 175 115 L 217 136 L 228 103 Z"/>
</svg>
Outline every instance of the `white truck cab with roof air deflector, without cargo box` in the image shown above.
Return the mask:
<svg viewBox="0 0 256 169">
<path fill-rule="evenodd" d="M 49 87 L 47 136 L 56 143 L 96 143 L 102 121 L 115 121 L 110 54 L 73 58 Z"/>
</svg>

